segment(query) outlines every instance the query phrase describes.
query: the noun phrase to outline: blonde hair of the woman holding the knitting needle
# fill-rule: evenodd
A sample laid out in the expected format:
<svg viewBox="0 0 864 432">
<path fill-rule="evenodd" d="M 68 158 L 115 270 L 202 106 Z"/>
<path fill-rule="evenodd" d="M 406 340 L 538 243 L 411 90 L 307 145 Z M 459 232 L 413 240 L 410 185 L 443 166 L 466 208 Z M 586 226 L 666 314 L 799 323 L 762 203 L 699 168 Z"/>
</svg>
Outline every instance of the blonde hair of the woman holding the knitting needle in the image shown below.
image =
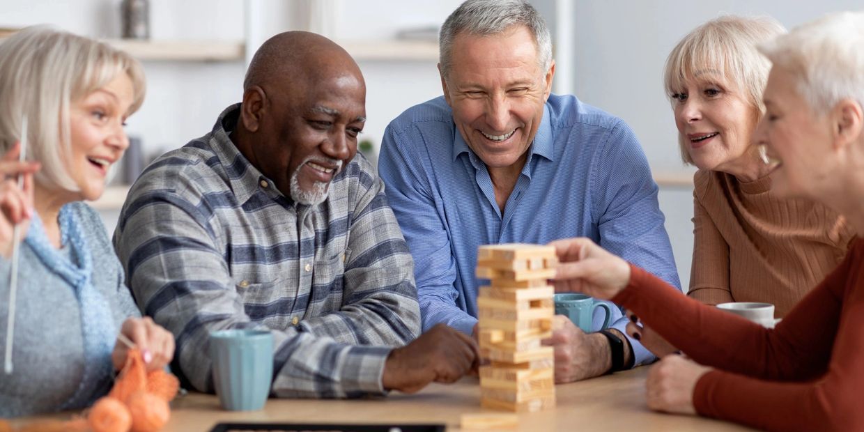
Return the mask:
<svg viewBox="0 0 864 432">
<path fill-rule="evenodd" d="M 129 54 L 46 26 L 10 36 L 0 43 L 0 152 L 21 139 L 26 115 L 27 158 L 42 164 L 35 181 L 76 191 L 65 163 L 71 151 L 71 105 L 120 73 L 132 81 L 131 114 L 141 107 L 145 84 L 141 63 Z"/>
</svg>

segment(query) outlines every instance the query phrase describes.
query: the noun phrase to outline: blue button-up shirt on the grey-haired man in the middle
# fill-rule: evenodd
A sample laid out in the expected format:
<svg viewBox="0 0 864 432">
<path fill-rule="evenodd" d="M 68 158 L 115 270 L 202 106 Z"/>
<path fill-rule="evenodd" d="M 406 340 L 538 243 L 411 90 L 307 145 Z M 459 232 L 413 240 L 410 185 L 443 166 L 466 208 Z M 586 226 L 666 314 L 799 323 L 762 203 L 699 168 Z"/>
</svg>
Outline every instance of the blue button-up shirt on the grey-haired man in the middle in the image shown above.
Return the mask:
<svg viewBox="0 0 864 432">
<path fill-rule="evenodd" d="M 680 289 L 658 187 L 630 127 L 573 96 L 551 95 L 504 207 L 444 98 L 416 105 L 384 132 L 378 171 L 414 256 L 423 328 L 477 322 L 477 246 L 588 237 Z M 613 326 L 626 317 L 613 308 Z M 594 316 L 594 329 L 603 314 Z M 625 333 L 626 334 L 626 333 Z M 636 364 L 654 359 L 630 340 Z"/>
</svg>

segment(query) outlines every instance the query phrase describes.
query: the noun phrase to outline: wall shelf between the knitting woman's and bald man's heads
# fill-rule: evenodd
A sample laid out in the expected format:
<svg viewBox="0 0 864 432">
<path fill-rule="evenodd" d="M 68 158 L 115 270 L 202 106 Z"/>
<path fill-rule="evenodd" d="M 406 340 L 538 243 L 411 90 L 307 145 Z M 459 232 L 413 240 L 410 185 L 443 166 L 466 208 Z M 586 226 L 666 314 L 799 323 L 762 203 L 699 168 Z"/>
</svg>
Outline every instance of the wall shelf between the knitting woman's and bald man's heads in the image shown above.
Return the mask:
<svg viewBox="0 0 864 432">
<path fill-rule="evenodd" d="M 136 41 L 107 39 L 112 47 L 132 54 L 138 60 L 166 61 L 239 61 L 245 58 L 245 45 L 237 41 Z"/>
</svg>

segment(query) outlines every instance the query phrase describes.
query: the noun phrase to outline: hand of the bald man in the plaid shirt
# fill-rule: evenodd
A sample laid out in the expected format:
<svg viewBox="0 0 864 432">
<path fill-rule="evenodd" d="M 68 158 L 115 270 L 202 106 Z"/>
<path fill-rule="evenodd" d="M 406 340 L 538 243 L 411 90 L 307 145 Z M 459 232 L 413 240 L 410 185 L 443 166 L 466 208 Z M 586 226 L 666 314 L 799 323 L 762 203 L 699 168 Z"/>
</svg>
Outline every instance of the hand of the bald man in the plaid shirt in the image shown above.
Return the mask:
<svg viewBox="0 0 864 432">
<path fill-rule="evenodd" d="M 427 384 L 454 383 L 477 368 L 477 342 L 438 324 L 410 344 L 391 351 L 384 364 L 384 389 L 413 393 Z"/>
</svg>

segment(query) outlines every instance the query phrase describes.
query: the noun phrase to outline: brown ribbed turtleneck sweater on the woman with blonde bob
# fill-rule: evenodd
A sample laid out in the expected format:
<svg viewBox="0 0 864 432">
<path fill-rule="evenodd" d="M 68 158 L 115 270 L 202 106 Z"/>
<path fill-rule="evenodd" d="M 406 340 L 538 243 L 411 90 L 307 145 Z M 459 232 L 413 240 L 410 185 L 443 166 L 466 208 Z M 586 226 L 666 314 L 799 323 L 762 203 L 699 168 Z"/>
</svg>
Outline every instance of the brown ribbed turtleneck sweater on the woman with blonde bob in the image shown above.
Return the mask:
<svg viewBox="0 0 864 432">
<path fill-rule="evenodd" d="M 700 302 L 768 302 L 785 316 L 846 255 L 854 232 L 807 200 L 779 200 L 771 177 L 741 182 L 700 170 L 688 295 Z"/>
</svg>

